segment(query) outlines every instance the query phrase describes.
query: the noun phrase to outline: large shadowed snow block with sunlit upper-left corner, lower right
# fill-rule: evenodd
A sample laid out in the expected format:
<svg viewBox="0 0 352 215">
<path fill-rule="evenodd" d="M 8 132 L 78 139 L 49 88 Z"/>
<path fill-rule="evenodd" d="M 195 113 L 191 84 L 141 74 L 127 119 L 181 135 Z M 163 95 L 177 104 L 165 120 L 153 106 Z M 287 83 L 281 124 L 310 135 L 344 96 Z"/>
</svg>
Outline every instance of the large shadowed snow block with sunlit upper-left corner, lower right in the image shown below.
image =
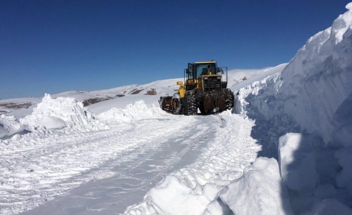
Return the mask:
<svg viewBox="0 0 352 215">
<path fill-rule="evenodd" d="M 340 159 L 339 162 L 335 156 Z M 336 208 L 333 211 L 351 206 L 351 194 L 340 189 L 346 188 L 351 180 L 351 162 L 345 148 L 336 153 L 336 150 L 324 147 L 319 136 L 287 133 L 280 137 L 280 171 L 283 182 L 289 188 L 295 214 L 319 214 L 317 210 L 326 207 L 326 200 L 333 200 L 328 204 Z"/>
</svg>

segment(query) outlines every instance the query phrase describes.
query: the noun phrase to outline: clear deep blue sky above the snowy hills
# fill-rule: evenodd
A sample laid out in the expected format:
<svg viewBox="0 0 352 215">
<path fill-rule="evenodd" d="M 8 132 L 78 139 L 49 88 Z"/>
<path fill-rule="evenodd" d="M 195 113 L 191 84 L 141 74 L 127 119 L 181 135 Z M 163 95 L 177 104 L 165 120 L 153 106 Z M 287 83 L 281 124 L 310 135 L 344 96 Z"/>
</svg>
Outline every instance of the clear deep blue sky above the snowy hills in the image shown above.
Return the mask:
<svg viewBox="0 0 352 215">
<path fill-rule="evenodd" d="M 349 0 L 2 0 L 0 98 L 288 62 Z"/>
</svg>

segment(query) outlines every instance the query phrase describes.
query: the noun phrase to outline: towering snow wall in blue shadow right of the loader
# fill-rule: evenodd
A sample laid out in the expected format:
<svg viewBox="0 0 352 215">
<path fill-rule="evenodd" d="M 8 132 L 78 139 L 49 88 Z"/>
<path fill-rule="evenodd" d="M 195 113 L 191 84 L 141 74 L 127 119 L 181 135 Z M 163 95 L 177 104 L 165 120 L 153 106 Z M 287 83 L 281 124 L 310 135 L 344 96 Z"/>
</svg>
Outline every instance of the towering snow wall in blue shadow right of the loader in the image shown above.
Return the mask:
<svg viewBox="0 0 352 215">
<path fill-rule="evenodd" d="M 351 121 L 334 116 L 340 109 L 339 116 L 351 118 L 347 114 L 351 103 L 344 102 L 352 93 L 351 24 L 349 10 L 331 27 L 308 39 L 282 74 L 243 88 L 239 101 L 242 109 L 237 112 L 251 112 L 253 118 L 285 128 L 317 132 L 333 145 L 351 144 Z M 335 141 L 333 136 L 339 132 L 344 133 L 344 139 Z"/>
</svg>

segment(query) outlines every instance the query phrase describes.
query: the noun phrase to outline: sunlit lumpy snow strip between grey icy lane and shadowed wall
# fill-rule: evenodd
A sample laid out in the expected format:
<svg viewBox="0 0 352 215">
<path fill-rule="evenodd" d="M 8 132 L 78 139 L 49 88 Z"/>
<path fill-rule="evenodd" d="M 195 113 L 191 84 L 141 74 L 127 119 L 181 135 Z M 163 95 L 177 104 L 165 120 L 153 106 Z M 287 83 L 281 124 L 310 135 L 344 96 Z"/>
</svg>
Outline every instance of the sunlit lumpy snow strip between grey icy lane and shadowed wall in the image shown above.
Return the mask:
<svg viewBox="0 0 352 215">
<path fill-rule="evenodd" d="M 226 185 L 242 176 L 260 150 L 250 137 L 252 121 L 230 111 L 219 115 L 223 121 L 215 131 L 219 135 L 197 162 L 166 176 L 140 204 L 129 207 L 124 214 L 209 214 L 208 205 L 217 201 Z"/>
</svg>

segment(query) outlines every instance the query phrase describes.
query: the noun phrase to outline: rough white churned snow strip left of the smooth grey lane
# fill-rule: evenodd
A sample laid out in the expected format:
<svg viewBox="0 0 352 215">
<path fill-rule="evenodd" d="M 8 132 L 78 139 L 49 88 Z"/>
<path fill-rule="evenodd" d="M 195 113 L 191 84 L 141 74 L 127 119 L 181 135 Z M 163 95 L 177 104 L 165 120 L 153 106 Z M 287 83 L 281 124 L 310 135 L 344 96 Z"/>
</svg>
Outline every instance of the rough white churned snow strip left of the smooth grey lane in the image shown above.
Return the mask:
<svg viewBox="0 0 352 215">
<path fill-rule="evenodd" d="M 52 136 L 30 144 L 25 143 L 25 139 L 20 140 L 25 146 L 23 149 L 0 154 L 3 172 L 0 176 L 0 214 L 29 210 L 85 181 L 104 177 L 101 174 L 111 176 L 111 172 L 92 173 L 89 170 L 110 159 L 118 159 L 123 152 L 152 144 L 155 140 L 167 140 L 169 135 L 179 133 L 183 125 L 194 123 L 182 119 L 170 116 L 163 121 L 140 120 L 116 125 L 108 131 L 63 135 L 55 137 L 54 141 Z M 159 132 L 161 130 L 165 132 Z"/>
</svg>

